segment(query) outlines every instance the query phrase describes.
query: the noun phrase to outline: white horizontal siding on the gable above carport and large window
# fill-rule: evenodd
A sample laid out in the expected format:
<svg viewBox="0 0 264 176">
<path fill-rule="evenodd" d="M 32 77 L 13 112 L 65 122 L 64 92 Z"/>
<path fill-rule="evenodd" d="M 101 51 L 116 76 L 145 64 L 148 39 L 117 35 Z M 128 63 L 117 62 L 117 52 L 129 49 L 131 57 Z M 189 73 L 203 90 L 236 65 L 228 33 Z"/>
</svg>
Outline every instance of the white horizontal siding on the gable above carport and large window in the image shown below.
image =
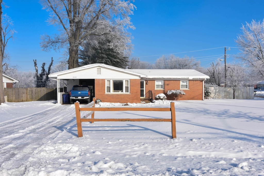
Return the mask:
<svg viewBox="0 0 264 176">
<path fill-rule="evenodd" d="M 101 75 L 97 74 L 97 68 L 101 68 Z M 59 75 L 58 79 L 140 79 L 140 76 L 103 67 L 94 67 Z"/>
</svg>

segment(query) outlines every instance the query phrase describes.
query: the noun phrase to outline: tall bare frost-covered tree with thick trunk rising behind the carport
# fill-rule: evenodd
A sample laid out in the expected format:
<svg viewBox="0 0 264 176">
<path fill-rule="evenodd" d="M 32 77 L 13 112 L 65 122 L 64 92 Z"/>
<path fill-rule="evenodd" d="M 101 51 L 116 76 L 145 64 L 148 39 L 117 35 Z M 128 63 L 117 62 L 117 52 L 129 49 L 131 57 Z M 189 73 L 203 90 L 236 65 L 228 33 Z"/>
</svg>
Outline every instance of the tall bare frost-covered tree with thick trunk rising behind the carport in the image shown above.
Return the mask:
<svg viewBox="0 0 264 176">
<path fill-rule="evenodd" d="M 129 0 L 41 0 L 50 11 L 49 24 L 59 26 L 59 34 L 42 37 L 44 50 L 65 49 L 69 69 L 79 67 L 79 49 L 88 42 L 92 46 L 109 39 L 109 47 L 117 53 L 131 49 L 134 29 L 129 15 L 135 6 Z"/>
</svg>

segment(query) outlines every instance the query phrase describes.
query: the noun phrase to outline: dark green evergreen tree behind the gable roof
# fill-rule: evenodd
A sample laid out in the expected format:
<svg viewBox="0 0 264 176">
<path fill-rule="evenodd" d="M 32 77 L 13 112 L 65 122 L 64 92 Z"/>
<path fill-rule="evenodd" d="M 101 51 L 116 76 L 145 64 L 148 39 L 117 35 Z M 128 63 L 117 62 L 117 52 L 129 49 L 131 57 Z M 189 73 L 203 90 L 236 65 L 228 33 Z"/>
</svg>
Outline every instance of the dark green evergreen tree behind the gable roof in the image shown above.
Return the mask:
<svg viewBox="0 0 264 176">
<path fill-rule="evenodd" d="M 110 41 L 105 40 L 100 42 L 98 47 L 95 47 L 87 42 L 84 49 L 80 50 L 79 53 L 79 59 L 81 59 L 80 66 L 103 63 L 119 68 L 126 68 L 128 58 L 121 53 L 115 52 L 108 44 L 110 44 Z"/>
</svg>

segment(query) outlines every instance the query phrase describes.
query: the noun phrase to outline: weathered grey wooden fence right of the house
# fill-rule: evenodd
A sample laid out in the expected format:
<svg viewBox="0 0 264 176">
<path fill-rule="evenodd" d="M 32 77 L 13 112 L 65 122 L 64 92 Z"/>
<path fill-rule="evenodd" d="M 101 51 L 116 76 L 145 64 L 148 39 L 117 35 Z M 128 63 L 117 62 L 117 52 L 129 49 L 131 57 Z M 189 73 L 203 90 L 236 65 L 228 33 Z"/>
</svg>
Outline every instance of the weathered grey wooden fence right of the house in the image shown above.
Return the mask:
<svg viewBox="0 0 264 176">
<path fill-rule="evenodd" d="M 233 87 L 210 87 L 211 98 L 233 99 Z M 235 99 L 254 99 L 254 87 L 237 87 Z"/>
</svg>

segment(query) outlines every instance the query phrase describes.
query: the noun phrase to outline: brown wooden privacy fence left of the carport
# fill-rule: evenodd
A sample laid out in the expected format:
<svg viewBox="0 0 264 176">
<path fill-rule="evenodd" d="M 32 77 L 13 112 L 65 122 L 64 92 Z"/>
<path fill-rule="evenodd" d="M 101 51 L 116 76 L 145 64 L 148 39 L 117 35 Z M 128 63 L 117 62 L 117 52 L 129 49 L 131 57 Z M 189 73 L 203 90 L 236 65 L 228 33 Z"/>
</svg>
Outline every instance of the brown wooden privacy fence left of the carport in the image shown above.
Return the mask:
<svg viewBox="0 0 264 176">
<path fill-rule="evenodd" d="M 56 88 L 4 88 L 4 96 L 8 102 L 46 101 L 57 99 Z"/>
</svg>

